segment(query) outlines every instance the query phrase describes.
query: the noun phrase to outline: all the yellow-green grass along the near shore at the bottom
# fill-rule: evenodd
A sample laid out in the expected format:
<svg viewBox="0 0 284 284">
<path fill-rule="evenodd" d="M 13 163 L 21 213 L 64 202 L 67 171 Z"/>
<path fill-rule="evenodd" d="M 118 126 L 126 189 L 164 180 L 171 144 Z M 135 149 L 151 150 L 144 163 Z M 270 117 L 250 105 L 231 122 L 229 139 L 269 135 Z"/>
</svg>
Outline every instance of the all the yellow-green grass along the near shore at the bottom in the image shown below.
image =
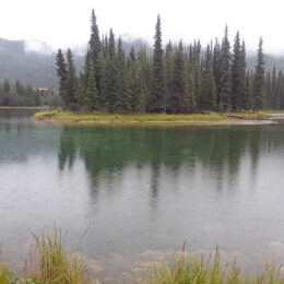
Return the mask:
<svg viewBox="0 0 284 284">
<path fill-rule="evenodd" d="M 17 277 L 0 264 L 0 284 L 92 284 L 100 283 L 88 276 L 83 259 L 70 255 L 63 247 L 61 234 L 35 238 L 36 249 L 24 265 L 24 277 Z M 222 265 L 216 249 L 212 257 L 178 255 L 175 261 L 157 262 L 145 269 L 143 276 L 125 283 L 141 284 L 284 284 L 280 267 L 267 265 L 255 279 L 244 277 L 234 262 Z M 104 282 L 102 282 L 104 283 Z M 113 282 L 107 282 L 113 283 Z"/>
</svg>

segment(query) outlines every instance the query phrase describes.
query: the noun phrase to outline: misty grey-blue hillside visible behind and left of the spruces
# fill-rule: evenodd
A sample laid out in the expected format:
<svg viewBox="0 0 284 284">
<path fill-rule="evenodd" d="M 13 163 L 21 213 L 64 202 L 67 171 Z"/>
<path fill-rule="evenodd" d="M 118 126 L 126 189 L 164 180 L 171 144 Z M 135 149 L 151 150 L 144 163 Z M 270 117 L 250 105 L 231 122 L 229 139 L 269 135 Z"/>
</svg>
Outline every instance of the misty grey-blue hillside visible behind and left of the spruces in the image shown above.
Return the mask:
<svg viewBox="0 0 284 284">
<path fill-rule="evenodd" d="M 123 42 L 127 52 L 131 46 L 138 50 L 140 46 L 146 46 L 142 39 L 131 39 Z M 151 48 L 149 48 L 151 49 Z M 84 58 L 74 52 L 76 68 L 80 70 Z M 248 56 L 248 68 L 252 69 L 256 58 Z M 277 69 L 284 70 L 284 56 L 265 56 L 267 68 L 272 69 L 275 64 Z M 44 54 L 25 49 L 24 40 L 7 40 L 0 38 L 0 82 L 4 79 L 10 81 L 20 80 L 24 84 L 37 87 L 57 86 L 55 54 Z"/>
</svg>

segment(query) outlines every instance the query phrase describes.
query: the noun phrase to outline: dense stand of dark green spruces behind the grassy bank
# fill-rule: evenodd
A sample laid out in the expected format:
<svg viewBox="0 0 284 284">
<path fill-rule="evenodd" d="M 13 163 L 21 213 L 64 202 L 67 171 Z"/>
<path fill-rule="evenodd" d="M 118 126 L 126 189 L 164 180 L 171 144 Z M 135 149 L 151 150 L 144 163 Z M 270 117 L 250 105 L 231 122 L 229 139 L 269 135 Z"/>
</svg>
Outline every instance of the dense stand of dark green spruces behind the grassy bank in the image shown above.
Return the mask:
<svg viewBox="0 0 284 284">
<path fill-rule="evenodd" d="M 282 71 L 265 72 L 262 38 L 257 64 L 247 68 L 246 45 L 237 32 L 233 47 L 224 37 L 201 52 L 200 40 L 163 48 L 157 16 L 153 54 L 144 47 L 126 54 L 113 28 L 99 35 L 94 10 L 83 71 L 76 74 L 71 49 L 56 57 L 62 107 L 109 113 L 240 111 L 284 108 Z"/>
</svg>

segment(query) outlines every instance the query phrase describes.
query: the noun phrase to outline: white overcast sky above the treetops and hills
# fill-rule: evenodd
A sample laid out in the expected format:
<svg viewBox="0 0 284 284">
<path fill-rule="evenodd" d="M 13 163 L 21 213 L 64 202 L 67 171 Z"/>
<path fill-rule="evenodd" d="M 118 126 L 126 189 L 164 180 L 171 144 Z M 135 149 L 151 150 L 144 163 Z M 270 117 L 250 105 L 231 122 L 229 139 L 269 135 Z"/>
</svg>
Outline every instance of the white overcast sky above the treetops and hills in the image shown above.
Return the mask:
<svg viewBox="0 0 284 284">
<path fill-rule="evenodd" d="M 284 55 L 284 0 L 0 0 L 0 37 L 38 39 L 55 48 L 86 44 L 94 8 L 100 33 L 143 37 L 153 44 L 157 13 L 164 43 L 203 44 L 222 37 L 225 23 L 233 40 L 237 29 L 249 49 L 260 36 L 264 51 Z"/>
</svg>

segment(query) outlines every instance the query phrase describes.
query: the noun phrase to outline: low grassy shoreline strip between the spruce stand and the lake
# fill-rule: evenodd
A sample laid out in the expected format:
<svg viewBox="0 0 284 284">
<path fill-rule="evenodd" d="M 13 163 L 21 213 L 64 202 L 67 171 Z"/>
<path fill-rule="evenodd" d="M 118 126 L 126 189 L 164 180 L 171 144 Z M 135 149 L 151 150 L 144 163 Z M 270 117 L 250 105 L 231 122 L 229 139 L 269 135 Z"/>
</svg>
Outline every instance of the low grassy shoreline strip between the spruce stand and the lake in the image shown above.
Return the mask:
<svg viewBox="0 0 284 284">
<path fill-rule="evenodd" d="M 279 123 L 273 114 L 192 114 L 192 115 L 118 115 L 118 114 L 76 114 L 60 111 L 39 111 L 36 121 L 62 123 L 97 125 L 175 125 L 175 126 L 253 126 Z"/>
</svg>

